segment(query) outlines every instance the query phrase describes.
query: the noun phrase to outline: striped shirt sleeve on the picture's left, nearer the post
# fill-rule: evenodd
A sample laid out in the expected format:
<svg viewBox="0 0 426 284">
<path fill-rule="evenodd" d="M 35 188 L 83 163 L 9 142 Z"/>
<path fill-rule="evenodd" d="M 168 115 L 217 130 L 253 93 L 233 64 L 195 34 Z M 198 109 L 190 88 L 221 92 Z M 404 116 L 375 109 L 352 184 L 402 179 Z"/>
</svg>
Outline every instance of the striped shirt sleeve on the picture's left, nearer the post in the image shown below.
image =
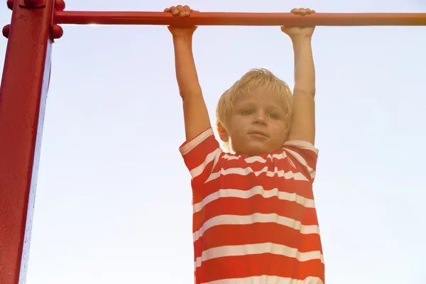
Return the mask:
<svg viewBox="0 0 426 284">
<path fill-rule="evenodd" d="M 223 153 L 211 128 L 183 143 L 179 151 L 195 185 L 209 178 Z"/>
</svg>

